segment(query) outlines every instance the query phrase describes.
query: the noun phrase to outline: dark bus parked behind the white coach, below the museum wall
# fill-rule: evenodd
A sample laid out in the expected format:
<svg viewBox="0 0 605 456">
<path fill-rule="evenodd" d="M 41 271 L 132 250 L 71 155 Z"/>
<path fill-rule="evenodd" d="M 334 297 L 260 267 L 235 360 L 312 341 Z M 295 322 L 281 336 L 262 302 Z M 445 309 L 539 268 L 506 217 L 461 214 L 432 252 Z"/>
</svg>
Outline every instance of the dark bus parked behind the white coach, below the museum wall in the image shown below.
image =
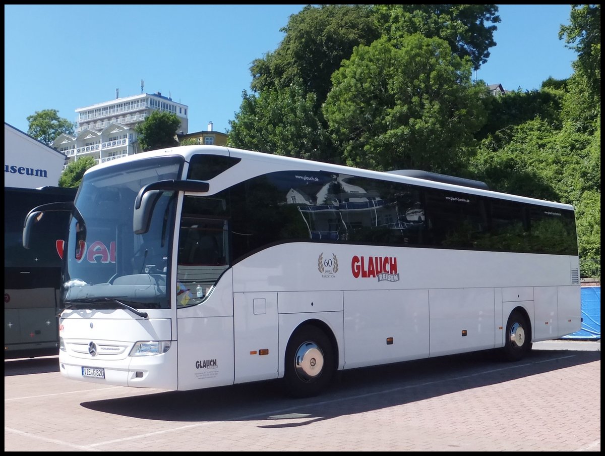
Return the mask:
<svg viewBox="0 0 605 456">
<path fill-rule="evenodd" d="M 69 214 L 48 214 L 30 249 L 22 245 L 23 222 L 32 207 L 75 196 L 75 188 L 4 187 L 4 359 L 59 354 L 60 248 Z"/>
</svg>

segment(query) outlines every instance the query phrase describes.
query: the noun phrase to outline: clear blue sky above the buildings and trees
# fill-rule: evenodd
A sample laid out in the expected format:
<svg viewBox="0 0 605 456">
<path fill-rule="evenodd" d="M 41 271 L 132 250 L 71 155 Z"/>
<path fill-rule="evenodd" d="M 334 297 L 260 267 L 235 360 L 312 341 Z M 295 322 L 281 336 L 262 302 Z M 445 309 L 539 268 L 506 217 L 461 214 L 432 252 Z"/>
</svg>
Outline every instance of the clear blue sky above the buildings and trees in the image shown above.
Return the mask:
<svg viewBox="0 0 605 456">
<path fill-rule="evenodd" d="M 4 5 L 4 121 L 141 93 L 189 106 L 189 132 L 226 132 L 250 91 L 250 64 L 275 50 L 304 5 Z M 477 79 L 532 90 L 572 74 L 558 39 L 571 5 L 499 5 L 495 47 Z"/>
</svg>

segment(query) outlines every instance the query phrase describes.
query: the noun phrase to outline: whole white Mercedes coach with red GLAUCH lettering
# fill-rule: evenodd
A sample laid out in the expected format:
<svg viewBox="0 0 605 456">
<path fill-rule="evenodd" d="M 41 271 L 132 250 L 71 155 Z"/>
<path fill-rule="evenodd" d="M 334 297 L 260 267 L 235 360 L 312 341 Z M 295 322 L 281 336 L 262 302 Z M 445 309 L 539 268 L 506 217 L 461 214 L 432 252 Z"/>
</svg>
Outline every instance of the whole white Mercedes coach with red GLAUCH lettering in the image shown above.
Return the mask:
<svg viewBox="0 0 605 456">
<path fill-rule="evenodd" d="M 309 396 L 336 371 L 518 360 L 581 326 L 574 208 L 474 180 L 184 146 L 91 168 L 70 210 L 74 380 Z"/>
</svg>

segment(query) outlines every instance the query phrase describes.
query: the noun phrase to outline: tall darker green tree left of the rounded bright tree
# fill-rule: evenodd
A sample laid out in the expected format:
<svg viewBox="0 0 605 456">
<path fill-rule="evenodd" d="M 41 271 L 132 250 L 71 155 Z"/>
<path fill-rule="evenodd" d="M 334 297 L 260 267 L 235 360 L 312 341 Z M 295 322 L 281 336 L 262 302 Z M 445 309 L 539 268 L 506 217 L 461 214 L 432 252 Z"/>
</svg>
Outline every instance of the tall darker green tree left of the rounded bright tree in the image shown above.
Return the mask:
<svg viewBox="0 0 605 456">
<path fill-rule="evenodd" d="M 321 105 L 330 76 L 359 44 L 379 37 L 369 5 L 307 5 L 290 16 L 280 46 L 250 67 L 253 93 L 244 91 L 230 122 L 230 144 L 286 156 L 340 162 Z"/>
</svg>

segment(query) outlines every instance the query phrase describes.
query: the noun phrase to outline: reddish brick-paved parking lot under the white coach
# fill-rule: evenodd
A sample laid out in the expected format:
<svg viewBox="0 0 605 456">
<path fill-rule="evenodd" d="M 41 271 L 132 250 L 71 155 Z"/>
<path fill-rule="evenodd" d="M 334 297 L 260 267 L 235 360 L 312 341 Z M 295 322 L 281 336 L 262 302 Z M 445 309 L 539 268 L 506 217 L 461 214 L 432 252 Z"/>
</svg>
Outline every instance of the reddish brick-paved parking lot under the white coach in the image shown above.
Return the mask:
<svg viewBox="0 0 605 456">
<path fill-rule="evenodd" d="M 5 451 L 601 451 L 600 342 L 355 369 L 319 397 L 276 382 L 188 392 L 5 361 Z"/>
</svg>

